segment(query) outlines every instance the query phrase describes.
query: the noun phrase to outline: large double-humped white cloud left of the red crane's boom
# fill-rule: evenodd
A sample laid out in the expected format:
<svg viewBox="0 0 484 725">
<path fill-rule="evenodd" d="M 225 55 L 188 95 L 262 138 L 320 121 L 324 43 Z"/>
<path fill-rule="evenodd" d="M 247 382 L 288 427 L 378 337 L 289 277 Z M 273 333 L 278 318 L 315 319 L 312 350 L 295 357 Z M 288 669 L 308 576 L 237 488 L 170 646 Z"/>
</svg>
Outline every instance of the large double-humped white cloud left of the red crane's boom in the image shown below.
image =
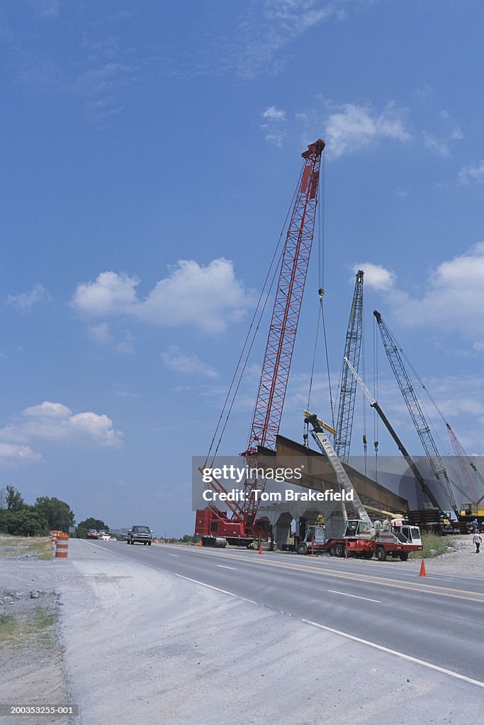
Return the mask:
<svg viewBox="0 0 484 725">
<path fill-rule="evenodd" d="M 242 320 L 252 305 L 233 263 L 223 257 L 205 267 L 180 260 L 144 299 L 136 294 L 138 285 L 136 277 L 102 272 L 94 282 L 78 285 L 72 305 L 90 317 L 131 315 L 157 325 L 191 326 L 210 334 L 223 333 L 228 323 Z"/>
</svg>

